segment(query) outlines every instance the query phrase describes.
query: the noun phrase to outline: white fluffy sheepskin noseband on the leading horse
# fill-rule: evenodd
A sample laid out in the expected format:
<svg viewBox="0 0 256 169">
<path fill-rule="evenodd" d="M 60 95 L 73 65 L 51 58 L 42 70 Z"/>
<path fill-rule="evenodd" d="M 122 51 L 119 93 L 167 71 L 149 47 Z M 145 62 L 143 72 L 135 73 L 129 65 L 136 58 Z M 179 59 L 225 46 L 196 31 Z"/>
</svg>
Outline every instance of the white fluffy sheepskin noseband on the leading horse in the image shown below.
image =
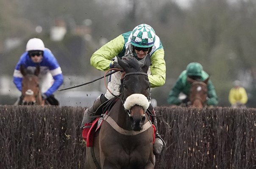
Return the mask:
<svg viewBox="0 0 256 169">
<path fill-rule="evenodd" d="M 132 94 L 126 98 L 124 107 L 127 110 L 130 110 L 134 105 L 142 106 L 144 110 L 146 110 L 149 106 L 149 101 L 147 100 L 147 97 L 142 94 Z"/>
</svg>

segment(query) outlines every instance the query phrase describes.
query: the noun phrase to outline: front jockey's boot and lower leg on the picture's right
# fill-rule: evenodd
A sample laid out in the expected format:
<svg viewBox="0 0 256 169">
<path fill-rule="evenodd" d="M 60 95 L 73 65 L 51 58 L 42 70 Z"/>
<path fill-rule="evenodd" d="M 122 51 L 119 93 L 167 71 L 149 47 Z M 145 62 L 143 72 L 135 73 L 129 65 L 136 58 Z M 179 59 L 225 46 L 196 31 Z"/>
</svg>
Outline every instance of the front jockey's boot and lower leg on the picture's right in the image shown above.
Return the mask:
<svg viewBox="0 0 256 169">
<path fill-rule="evenodd" d="M 154 116 L 156 116 L 155 110 L 151 104 L 148 107 L 148 109 Z M 163 150 L 163 147 L 165 147 L 166 144 L 164 142 L 164 139 L 162 139 L 160 134 L 158 133 L 156 117 L 153 117 L 153 125 L 155 125 L 156 127 L 156 139 L 155 139 L 155 143 L 153 144 L 153 153 L 158 155 L 161 153 L 161 151 Z"/>
</svg>

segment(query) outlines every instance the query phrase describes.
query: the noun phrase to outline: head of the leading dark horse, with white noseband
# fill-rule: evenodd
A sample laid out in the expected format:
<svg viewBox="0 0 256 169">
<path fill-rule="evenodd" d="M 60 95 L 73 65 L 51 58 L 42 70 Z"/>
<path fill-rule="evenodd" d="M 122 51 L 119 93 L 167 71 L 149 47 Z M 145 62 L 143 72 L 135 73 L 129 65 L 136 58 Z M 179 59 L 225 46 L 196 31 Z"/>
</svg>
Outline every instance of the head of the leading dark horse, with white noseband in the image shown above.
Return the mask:
<svg viewBox="0 0 256 169">
<path fill-rule="evenodd" d="M 140 131 L 150 100 L 150 82 L 147 76 L 151 64 L 150 56 L 147 56 L 143 65 L 135 58 L 124 60 L 118 58 L 118 64 L 125 72 L 125 76 L 121 79 L 121 98 L 125 101 L 124 107 L 128 110 L 132 129 Z"/>
</svg>

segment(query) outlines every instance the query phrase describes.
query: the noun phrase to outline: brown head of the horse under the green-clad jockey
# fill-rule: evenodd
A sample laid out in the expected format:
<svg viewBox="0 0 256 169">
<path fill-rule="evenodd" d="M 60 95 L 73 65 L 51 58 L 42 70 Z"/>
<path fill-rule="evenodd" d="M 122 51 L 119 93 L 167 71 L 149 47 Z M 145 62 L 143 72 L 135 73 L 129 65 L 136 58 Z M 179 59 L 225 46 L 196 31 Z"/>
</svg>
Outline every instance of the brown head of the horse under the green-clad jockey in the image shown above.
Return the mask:
<svg viewBox="0 0 256 169">
<path fill-rule="evenodd" d="M 187 77 L 187 80 L 191 84 L 189 94 L 191 105 L 197 108 L 203 108 L 203 106 L 206 105 L 207 100 L 207 83 L 209 81 L 209 77 L 203 82 L 196 81 L 189 77 Z"/>
</svg>

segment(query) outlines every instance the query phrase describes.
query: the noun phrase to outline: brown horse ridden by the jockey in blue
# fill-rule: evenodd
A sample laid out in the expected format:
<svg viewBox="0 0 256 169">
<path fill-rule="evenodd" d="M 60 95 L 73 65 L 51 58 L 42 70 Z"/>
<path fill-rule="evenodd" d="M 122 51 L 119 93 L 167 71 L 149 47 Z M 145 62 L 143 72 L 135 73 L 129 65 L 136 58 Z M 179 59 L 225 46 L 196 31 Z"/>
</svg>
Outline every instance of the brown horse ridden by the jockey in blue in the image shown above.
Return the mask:
<svg viewBox="0 0 256 169">
<path fill-rule="evenodd" d="M 34 72 L 28 71 L 23 65 L 20 65 L 22 78 L 22 102 L 21 105 L 45 105 L 39 88 L 38 75 L 40 72 L 39 65 Z"/>
</svg>

